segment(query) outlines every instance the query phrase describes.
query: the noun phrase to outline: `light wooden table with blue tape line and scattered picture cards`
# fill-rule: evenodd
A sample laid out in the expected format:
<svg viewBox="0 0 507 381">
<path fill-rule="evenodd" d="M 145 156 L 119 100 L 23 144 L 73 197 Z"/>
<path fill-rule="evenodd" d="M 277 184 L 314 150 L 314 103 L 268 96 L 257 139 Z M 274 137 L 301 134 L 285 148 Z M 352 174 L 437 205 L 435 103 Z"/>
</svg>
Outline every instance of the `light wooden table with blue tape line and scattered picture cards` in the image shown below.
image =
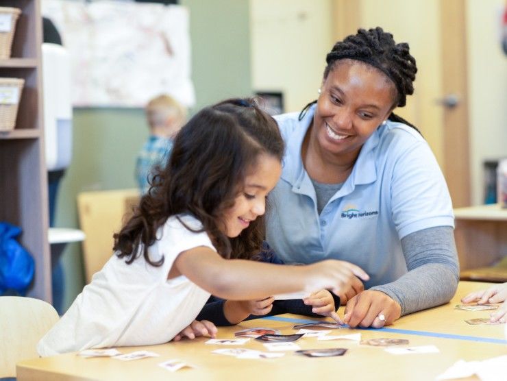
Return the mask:
<svg viewBox="0 0 507 381">
<path fill-rule="evenodd" d="M 158 358 L 144 358 L 123 362 L 112 358 L 82 358 L 63 354 L 49 358 L 25 360 L 17 365 L 18 380 L 434 380 L 459 359 L 485 360 L 507 354 L 505 325 L 469 325 L 465 319 L 486 317 L 489 311 L 456 310 L 462 295 L 489 286 L 486 283 L 460 282 L 458 293 L 449 304 L 402 317 L 395 324 L 380 330 L 351 330 L 343 328 L 330 334 L 360 332 L 362 339 L 408 339 L 410 346 L 436 345 L 440 353 L 394 355 L 382 347 L 359 345 L 353 341 L 317 341 L 299 339 L 302 349 L 343 347 L 345 356 L 308 358 L 286 352 L 282 358 L 243 360 L 232 356 L 212 354 L 214 349 L 233 347 L 205 345 L 207 339 L 167 343 L 149 347 L 123 347 L 123 353 L 147 349 L 160 354 Z M 340 311 L 343 312 L 343 311 Z M 219 338 L 232 338 L 244 328 L 271 327 L 284 334 L 295 332 L 295 323 L 309 321 L 298 315 L 280 315 L 245 321 L 230 328 L 219 328 Z M 236 346 L 234 346 L 236 347 Z M 251 339 L 250 349 L 267 351 Z M 158 363 L 178 358 L 195 369 L 181 369 L 172 373 Z M 476 378 L 469 378 L 475 380 Z"/>
</svg>

